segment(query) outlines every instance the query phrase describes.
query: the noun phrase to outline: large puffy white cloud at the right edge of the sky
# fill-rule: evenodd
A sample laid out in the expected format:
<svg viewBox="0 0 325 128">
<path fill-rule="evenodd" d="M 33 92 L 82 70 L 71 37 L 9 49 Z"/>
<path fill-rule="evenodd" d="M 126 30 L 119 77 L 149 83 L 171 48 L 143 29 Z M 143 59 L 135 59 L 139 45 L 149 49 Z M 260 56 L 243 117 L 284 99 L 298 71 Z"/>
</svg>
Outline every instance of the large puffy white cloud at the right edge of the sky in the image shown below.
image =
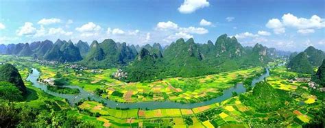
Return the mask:
<svg viewBox="0 0 325 128">
<path fill-rule="evenodd" d="M 322 29 L 325 27 L 324 18 L 313 15 L 311 18 L 298 18 L 293 14 L 283 14 L 282 21 L 278 18 L 272 18 L 266 24 L 266 27 L 274 29 L 275 34 L 285 33 L 285 27 L 298 29 L 300 34 L 308 34 L 315 32 L 314 29 Z"/>
</svg>

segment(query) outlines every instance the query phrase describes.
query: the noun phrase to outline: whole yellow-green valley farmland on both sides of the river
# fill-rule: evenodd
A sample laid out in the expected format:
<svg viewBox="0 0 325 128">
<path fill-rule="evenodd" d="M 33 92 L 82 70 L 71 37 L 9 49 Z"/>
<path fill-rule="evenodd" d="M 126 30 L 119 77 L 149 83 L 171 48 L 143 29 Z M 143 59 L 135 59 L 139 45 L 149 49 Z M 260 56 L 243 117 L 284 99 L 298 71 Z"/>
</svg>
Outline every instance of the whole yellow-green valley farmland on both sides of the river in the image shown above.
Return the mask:
<svg viewBox="0 0 325 128">
<path fill-rule="evenodd" d="M 194 103 L 218 97 L 222 90 L 237 82 L 250 81 L 261 75 L 261 67 L 219 73 L 192 78 L 168 78 L 160 81 L 126 84 L 110 78 L 117 69 L 101 71 L 75 71 L 65 65 L 44 66 L 28 62 L 26 58 L 0 56 L 0 62 L 12 63 L 25 79 L 29 68 L 38 68 L 40 79 L 55 77 L 58 73 L 69 79 L 71 85 L 80 86 L 89 92 L 101 92 L 101 97 L 119 102 L 175 101 Z M 95 73 L 96 72 L 96 73 Z M 287 71 L 285 66 L 272 68 L 266 81 L 273 88 L 289 94 L 283 105 L 272 112 L 261 112 L 253 105 L 234 96 L 221 103 L 214 103 L 193 109 L 119 110 L 106 107 L 96 101 L 83 101 L 70 106 L 64 99 L 53 97 L 24 81 L 29 96 L 17 105 L 29 105 L 37 109 L 52 106 L 53 111 L 66 110 L 68 114 L 94 123 L 96 127 L 302 127 L 311 123 L 317 112 L 324 109 L 324 94 L 309 88 L 309 81 L 294 81 L 294 77 L 310 77 Z M 243 96 L 252 94 L 246 92 Z M 263 97 L 261 97 L 263 99 Z M 256 104 L 258 106 L 258 103 Z M 324 110 L 323 110 L 324 111 Z"/>
</svg>

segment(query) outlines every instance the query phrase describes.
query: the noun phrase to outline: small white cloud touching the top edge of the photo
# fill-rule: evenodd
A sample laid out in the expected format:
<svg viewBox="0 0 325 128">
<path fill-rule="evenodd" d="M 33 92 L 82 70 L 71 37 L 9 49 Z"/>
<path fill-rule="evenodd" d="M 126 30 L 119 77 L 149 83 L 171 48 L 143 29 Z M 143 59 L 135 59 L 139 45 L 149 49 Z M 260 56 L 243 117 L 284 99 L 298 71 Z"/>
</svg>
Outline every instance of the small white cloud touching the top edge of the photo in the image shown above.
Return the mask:
<svg viewBox="0 0 325 128">
<path fill-rule="evenodd" d="M 183 14 L 190 14 L 200 8 L 208 7 L 210 3 L 206 0 L 184 0 L 178 11 Z"/>
</svg>

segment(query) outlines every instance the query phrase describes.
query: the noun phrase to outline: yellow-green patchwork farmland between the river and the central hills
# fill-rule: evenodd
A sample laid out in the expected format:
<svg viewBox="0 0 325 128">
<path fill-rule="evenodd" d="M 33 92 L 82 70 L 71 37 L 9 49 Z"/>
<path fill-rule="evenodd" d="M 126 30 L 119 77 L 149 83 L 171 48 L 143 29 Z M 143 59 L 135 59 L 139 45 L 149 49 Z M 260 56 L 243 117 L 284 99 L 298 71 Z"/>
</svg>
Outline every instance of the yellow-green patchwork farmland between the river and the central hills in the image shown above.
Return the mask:
<svg viewBox="0 0 325 128">
<path fill-rule="evenodd" d="M 15 63 L 15 62 L 12 62 Z M 22 65 L 37 68 L 40 79 L 55 78 L 56 75 L 67 79 L 69 85 L 80 86 L 88 92 L 97 93 L 105 99 L 121 103 L 142 101 L 174 101 L 180 103 L 195 103 L 219 97 L 222 91 L 237 83 L 250 81 L 265 72 L 263 67 L 248 68 L 237 71 L 223 72 L 216 75 L 200 77 L 175 77 L 158 81 L 125 83 L 112 79 L 110 76 L 117 69 L 75 71 L 66 68 L 67 65 L 41 65 L 37 63 L 19 62 Z M 98 94 L 98 93 L 97 93 Z"/>
</svg>

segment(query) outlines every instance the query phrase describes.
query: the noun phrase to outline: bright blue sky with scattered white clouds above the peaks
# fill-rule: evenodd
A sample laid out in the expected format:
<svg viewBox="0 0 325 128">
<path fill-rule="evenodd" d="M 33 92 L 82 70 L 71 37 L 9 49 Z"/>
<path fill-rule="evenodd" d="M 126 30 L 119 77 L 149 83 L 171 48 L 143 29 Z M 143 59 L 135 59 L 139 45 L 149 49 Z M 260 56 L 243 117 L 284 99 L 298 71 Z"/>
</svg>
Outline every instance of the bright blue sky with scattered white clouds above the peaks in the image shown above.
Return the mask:
<svg viewBox="0 0 325 128">
<path fill-rule="evenodd" d="M 168 45 L 235 36 L 283 51 L 325 51 L 325 0 L 0 0 L 0 44 L 58 38 Z"/>
</svg>

